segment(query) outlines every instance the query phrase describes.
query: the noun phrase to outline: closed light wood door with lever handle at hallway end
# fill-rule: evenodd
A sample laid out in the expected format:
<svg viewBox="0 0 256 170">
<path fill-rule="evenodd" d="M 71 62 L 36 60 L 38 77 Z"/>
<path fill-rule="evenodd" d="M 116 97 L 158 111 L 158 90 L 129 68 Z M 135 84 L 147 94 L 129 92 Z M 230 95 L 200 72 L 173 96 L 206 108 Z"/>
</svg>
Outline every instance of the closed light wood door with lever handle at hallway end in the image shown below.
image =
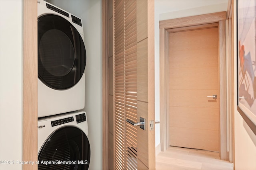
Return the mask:
<svg viewBox="0 0 256 170">
<path fill-rule="evenodd" d="M 218 63 L 218 26 L 169 33 L 170 146 L 220 150 Z"/>
</svg>

